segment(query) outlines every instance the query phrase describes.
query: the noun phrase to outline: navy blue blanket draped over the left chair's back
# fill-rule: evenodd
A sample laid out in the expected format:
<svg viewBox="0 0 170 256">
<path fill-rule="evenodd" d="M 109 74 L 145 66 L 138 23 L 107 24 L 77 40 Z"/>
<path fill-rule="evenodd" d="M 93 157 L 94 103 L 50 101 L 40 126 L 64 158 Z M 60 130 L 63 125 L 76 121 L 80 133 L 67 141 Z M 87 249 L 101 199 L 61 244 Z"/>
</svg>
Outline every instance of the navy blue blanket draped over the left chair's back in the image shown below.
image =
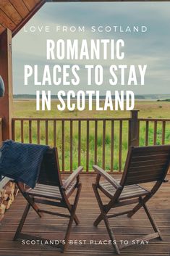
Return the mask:
<svg viewBox="0 0 170 256">
<path fill-rule="evenodd" d="M 22 181 L 34 188 L 38 180 L 43 154 L 48 146 L 4 141 L 0 149 L 0 176 Z"/>
</svg>

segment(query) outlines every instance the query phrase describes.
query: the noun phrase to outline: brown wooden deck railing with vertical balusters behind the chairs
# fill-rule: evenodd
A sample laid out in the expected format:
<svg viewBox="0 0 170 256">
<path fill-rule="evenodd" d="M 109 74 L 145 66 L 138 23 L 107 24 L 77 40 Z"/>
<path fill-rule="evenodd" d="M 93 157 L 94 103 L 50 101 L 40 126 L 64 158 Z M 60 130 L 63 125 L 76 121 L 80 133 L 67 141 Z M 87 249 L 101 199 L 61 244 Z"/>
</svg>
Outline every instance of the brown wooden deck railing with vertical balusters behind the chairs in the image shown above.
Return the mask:
<svg viewBox="0 0 170 256">
<path fill-rule="evenodd" d="M 93 164 L 121 172 L 129 146 L 170 143 L 170 119 L 13 118 L 15 141 L 57 146 L 62 171 Z"/>
</svg>

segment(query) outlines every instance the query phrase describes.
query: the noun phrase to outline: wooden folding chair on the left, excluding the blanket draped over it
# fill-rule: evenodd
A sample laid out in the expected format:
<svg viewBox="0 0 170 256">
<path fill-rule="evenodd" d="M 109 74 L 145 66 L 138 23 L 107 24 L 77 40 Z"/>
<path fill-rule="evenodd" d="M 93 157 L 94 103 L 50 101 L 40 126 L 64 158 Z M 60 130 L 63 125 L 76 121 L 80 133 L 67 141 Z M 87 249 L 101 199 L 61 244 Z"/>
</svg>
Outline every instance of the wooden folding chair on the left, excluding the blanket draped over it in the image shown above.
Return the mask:
<svg viewBox="0 0 170 256">
<path fill-rule="evenodd" d="M 75 211 L 77 208 L 77 203 L 80 197 L 80 190 L 82 184 L 79 181 L 79 174 L 82 171 L 82 166 L 78 167 L 66 181 L 62 182 L 61 173 L 59 171 L 59 159 L 57 154 L 57 149 L 48 149 L 45 156 L 43 157 L 43 162 L 41 165 L 41 170 L 38 178 L 38 183 L 36 184 L 34 189 L 25 189 L 25 185 L 23 183 L 18 182 L 17 186 L 20 189 L 23 197 L 27 200 L 27 206 L 20 220 L 20 224 L 17 228 L 17 231 L 14 235 L 14 240 L 16 239 L 38 239 L 35 236 L 28 236 L 27 234 L 22 234 L 22 227 L 27 218 L 27 213 L 30 210 L 30 207 L 33 207 L 33 210 L 38 214 L 41 218 L 44 213 L 48 213 L 51 215 L 56 215 L 64 218 L 69 218 L 69 223 L 65 235 L 65 244 L 59 244 L 61 251 L 67 247 L 67 241 L 69 239 L 69 234 L 72 228 L 73 220 L 75 220 L 76 225 L 79 223 L 77 216 L 75 215 Z M 69 197 L 73 191 L 77 189 L 77 193 L 75 195 L 75 201 L 73 205 L 69 202 Z M 51 212 L 49 210 L 41 210 L 36 203 L 40 203 L 43 205 L 52 205 L 56 207 L 64 207 L 67 208 L 69 214 L 62 214 L 59 212 Z M 39 238 L 40 239 L 40 238 Z M 41 239 L 44 240 L 44 239 Z"/>
</svg>

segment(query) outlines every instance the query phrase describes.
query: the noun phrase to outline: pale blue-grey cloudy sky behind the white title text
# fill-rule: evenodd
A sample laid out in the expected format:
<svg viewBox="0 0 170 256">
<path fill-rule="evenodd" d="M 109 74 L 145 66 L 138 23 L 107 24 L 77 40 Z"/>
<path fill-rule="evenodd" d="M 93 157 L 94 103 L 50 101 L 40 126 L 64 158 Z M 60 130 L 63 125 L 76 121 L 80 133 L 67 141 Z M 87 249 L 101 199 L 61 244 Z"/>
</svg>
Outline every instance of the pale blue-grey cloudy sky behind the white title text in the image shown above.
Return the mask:
<svg viewBox="0 0 170 256">
<path fill-rule="evenodd" d="M 27 23 L 26 30 L 30 26 L 35 28 L 46 25 L 50 26 L 51 32 L 25 33 L 20 30 L 13 38 L 13 70 L 14 70 L 14 94 L 35 94 L 36 90 L 51 90 L 56 94 L 59 90 L 68 91 L 77 90 L 100 90 L 104 94 L 106 90 L 132 90 L 136 94 L 170 94 L 170 3 L 169 2 L 114 2 L 114 3 L 47 3 L 38 13 Z M 72 33 L 68 31 L 56 32 L 56 25 L 67 26 L 85 26 L 85 32 Z M 91 26 L 98 27 L 102 25 L 118 27 L 122 26 L 124 30 L 134 25 L 148 28 L 146 33 L 92 33 Z M 46 60 L 46 39 L 64 40 L 84 38 L 90 39 L 119 39 L 125 42 L 125 57 L 121 61 L 117 60 L 66 60 L 66 61 L 47 61 Z M 86 64 L 101 64 L 104 70 L 104 80 L 101 86 L 87 86 L 85 70 L 82 68 L 80 73 L 80 86 L 35 86 L 33 79 L 30 79 L 29 85 L 24 86 L 24 65 L 38 65 L 39 78 L 42 77 L 44 65 L 55 64 L 73 65 L 78 64 L 83 67 Z M 145 74 L 145 86 L 117 86 L 109 85 L 109 66 L 111 64 L 119 65 L 148 65 Z M 138 77 L 139 78 L 139 77 Z"/>
</svg>

